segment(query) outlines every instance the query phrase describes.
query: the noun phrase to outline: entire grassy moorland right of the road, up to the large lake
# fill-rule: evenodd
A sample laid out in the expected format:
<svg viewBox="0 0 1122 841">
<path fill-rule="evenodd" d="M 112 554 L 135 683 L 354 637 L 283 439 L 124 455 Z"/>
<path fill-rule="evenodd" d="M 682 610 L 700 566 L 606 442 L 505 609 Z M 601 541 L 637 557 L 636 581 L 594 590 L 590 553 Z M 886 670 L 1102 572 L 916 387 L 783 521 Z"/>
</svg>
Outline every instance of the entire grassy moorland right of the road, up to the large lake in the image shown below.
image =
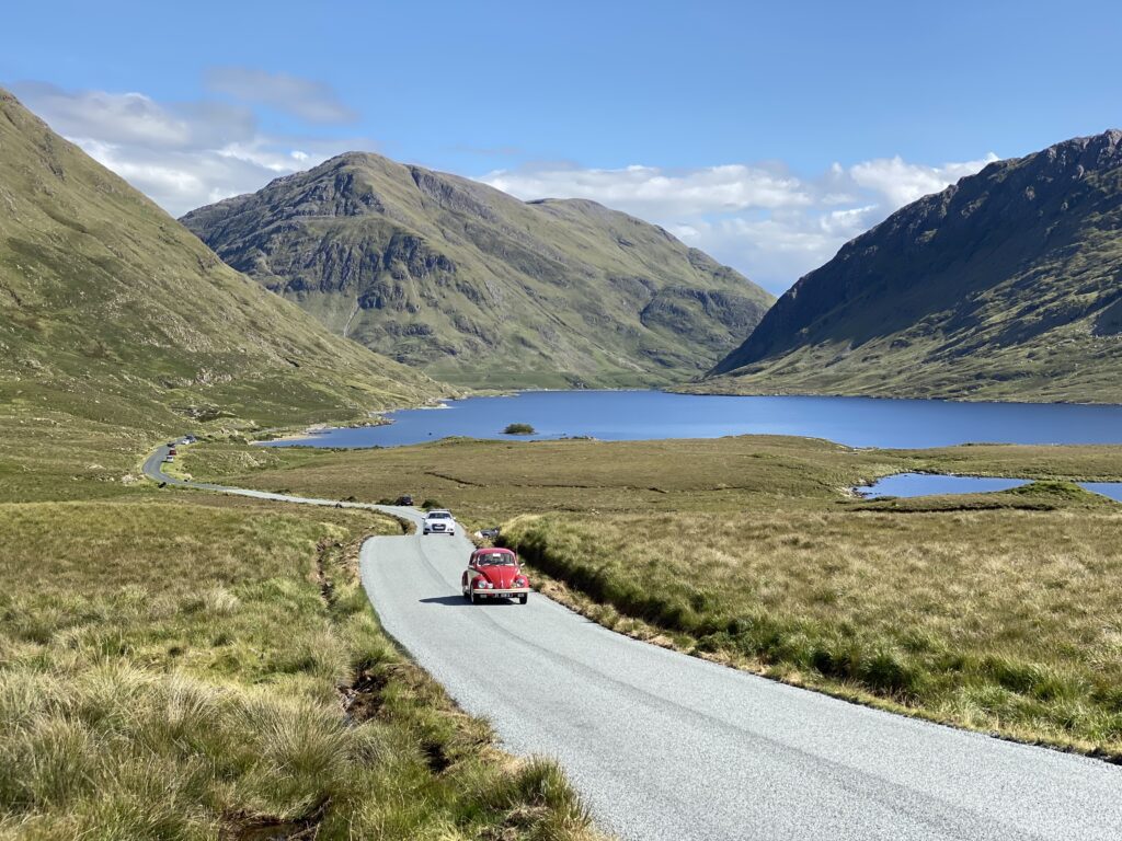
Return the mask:
<svg viewBox="0 0 1122 841">
<path fill-rule="evenodd" d="M 1122 447 L 850 450 L 744 436 L 206 446 L 183 466 L 266 490 L 411 492 L 504 540 L 609 627 L 1008 737 L 1122 756 Z M 898 471 L 1019 475 L 1002 493 L 863 500 Z"/>
</svg>

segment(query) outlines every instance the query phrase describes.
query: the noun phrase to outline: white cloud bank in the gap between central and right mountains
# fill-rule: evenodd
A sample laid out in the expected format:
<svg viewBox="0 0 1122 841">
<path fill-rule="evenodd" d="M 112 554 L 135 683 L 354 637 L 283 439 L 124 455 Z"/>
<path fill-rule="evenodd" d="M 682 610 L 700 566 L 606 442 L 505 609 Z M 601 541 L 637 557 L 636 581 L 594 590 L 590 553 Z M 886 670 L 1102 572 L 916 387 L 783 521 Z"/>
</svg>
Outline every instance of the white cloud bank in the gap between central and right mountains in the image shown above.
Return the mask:
<svg viewBox="0 0 1122 841">
<path fill-rule="evenodd" d="M 633 213 L 780 293 L 893 211 L 992 160 L 991 154 L 939 166 L 900 157 L 835 163 L 809 179 L 744 164 L 684 170 L 543 164 L 478 181 L 519 198 L 591 198 Z"/>
</svg>

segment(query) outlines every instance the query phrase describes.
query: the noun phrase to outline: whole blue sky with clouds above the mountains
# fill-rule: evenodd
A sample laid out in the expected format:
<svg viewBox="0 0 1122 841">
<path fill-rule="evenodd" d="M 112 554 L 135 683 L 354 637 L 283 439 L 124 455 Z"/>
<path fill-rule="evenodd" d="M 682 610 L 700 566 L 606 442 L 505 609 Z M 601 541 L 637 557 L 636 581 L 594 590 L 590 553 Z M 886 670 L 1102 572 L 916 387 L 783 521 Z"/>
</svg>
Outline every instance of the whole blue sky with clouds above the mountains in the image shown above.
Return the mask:
<svg viewBox="0 0 1122 841">
<path fill-rule="evenodd" d="M 775 292 L 1122 124 L 1106 2 L 20 6 L 0 84 L 175 214 L 361 148 L 603 201 Z"/>
</svg>

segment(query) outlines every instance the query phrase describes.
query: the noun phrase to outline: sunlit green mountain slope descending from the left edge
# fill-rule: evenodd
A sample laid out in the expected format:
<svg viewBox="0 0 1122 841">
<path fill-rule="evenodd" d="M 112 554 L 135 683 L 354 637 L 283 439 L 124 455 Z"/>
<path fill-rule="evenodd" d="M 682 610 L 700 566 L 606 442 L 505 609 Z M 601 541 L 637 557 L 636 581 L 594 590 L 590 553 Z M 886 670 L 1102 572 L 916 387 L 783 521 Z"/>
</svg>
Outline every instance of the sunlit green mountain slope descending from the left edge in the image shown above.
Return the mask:
<svg viewBox="0 0 1122 841">
<path fill-rule="evenodd" d="M 435 391 L 226 266 L 0 91 L 2 414 L 292 424 Z"/>
</svg>

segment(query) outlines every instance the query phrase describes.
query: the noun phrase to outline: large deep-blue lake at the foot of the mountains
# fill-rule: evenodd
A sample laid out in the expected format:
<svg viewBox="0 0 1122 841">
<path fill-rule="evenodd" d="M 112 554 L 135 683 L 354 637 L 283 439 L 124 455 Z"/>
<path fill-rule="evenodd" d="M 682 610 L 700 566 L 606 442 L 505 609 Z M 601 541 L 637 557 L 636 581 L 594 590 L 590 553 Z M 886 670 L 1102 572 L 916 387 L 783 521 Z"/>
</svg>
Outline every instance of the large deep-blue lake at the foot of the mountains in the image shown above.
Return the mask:
<svg viewBox="0 0 1122 841">
<path fill-rule="evenodd" d="M 450 400 L 447 408 L 405 409 L 384 426 L 334 428 L 273 446 L 399 446 L 452 435 L 509 438 L 511 423 L 536 435 L 603 441 L 712 438 L 775 434 L 850 446 L 929 447 L 966 442 L 1122 443 L 1122 406 L 950 403 L 862 397 L 716 397 L 664 391 L 524 391 Z"/>
</svg>

